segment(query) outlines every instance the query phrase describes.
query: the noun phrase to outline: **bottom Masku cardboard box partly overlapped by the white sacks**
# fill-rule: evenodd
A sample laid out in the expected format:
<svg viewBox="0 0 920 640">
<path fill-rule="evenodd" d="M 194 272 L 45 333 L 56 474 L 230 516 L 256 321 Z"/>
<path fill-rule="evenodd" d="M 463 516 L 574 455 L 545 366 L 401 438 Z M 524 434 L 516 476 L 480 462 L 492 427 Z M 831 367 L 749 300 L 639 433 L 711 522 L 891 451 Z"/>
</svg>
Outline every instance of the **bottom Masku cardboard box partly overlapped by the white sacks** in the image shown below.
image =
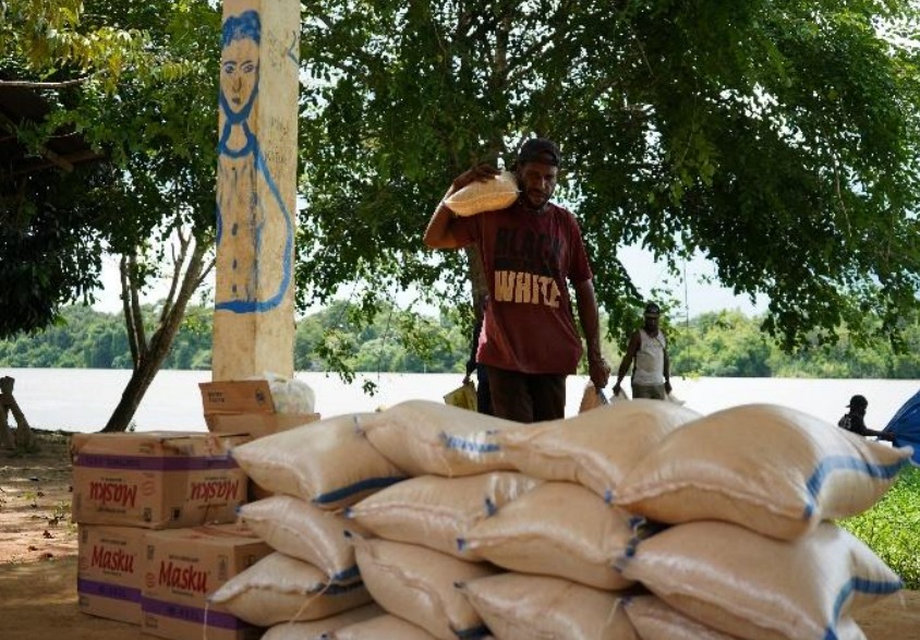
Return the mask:
<svg viewBox="0 0 920 640">
<path fill-rule="evenodd" d="M 264 629 L 207 597 L 273 552 L 239 524 L 147 531 L 142 630 L 171 640 L 257 640 Z M 205 626 L 207 625 L 207 626 Z"/>
</svg>

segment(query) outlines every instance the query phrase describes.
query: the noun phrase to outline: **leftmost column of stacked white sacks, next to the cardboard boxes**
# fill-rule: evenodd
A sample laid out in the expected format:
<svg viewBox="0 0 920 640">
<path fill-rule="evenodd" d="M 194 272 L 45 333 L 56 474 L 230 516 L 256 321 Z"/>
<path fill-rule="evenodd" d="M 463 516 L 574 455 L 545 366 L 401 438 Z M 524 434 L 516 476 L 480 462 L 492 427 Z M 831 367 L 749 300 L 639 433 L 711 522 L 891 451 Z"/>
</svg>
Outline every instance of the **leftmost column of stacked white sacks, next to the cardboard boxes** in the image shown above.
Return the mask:
<svg viewBox="0 0 920 640">
<path fill-rule="evenodd" d="M 210 596 L 237 617 L 270 627 L 267 640 L 320 638 L 383 614 L 361 581 L 351 528 L 341 508 L 405 475 L 377 452 L 356 423 L 340 415 L 268 435 L 232 450 L 267 498 L 240 518 L 275 553 Z"/>
</svg>

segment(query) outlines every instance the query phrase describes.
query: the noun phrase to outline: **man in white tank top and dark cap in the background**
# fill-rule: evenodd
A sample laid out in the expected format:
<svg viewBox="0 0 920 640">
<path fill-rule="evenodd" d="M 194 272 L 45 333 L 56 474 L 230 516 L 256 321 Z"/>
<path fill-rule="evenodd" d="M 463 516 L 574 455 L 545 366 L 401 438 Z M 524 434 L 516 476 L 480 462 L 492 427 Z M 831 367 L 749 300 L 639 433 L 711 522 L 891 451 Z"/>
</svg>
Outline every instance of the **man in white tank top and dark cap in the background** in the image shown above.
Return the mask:
<svg viewBox="0 0 920 640">
<path fill-rule="evenodd" d="M 626 347 L 626 354 L 617 372 L 614 397 L 619 396 L 622 378 L 631 364 L 632 397 L 666 400 L 670 394 L 670 363 L 667 357 L 667 339 L 658 328 L 662 310 L 654 302 L 645 305 L 642 328 L 633 333 Z"/>
</svg>

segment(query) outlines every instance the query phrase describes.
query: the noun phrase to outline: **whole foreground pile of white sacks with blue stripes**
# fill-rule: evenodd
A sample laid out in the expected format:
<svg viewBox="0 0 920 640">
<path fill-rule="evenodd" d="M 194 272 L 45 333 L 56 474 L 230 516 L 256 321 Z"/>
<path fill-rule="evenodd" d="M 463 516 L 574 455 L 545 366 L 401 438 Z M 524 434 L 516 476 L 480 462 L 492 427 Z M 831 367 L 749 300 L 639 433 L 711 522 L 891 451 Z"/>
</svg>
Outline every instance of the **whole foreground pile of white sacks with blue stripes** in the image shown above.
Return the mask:
<svg viewBox="0 0 920 640">
<path fill-rule="evenodd" d="M 522 425 L 413 400 L 301 428 L 324 425 L 353 450 L 278 439 L 258 448 L 274 461 L 253 476 L 346 507 L 335 531 L 350 531 L 386 613 L 330 623 L 324 638 L 859 640 L 852 607 L 900 584 L 825 520 L 870 508 L 909 450 L 780 407 L 701 416 L 632 400 Z M 258 474 L 246 458 L 285 435 L 234 457 Z M 337 481 L 320 487 L 317 470 Z M 304 561 L 329 583 L 353 576 L 329 544 Z M 292 635 L 303 624 L 268 638 L 316 638 L 319 627 Z"/>
</svg>

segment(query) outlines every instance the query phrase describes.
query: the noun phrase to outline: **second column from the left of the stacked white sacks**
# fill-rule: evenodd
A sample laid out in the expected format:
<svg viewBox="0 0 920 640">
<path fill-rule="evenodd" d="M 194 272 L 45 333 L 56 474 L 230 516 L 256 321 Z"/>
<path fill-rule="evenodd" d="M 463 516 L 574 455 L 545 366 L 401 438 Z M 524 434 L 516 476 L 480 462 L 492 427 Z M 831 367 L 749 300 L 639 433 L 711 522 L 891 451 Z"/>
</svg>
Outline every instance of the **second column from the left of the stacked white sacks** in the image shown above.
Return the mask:
<svg viewBox="0 0 920 640">
<path fill-rule="evenodd" d="M 537 482 L 508 467 L 494 445 L 513 422 L 422 400 L 361 421 L 367 439 L 405 480 L 346 509 L 372 536 L 353 536 L 358 566 L 386 616 L 330 639 L 486 638 L 482 617 L 456 584 L 498 568 L 458 547 L 461 533 Z"/>
</svg>

